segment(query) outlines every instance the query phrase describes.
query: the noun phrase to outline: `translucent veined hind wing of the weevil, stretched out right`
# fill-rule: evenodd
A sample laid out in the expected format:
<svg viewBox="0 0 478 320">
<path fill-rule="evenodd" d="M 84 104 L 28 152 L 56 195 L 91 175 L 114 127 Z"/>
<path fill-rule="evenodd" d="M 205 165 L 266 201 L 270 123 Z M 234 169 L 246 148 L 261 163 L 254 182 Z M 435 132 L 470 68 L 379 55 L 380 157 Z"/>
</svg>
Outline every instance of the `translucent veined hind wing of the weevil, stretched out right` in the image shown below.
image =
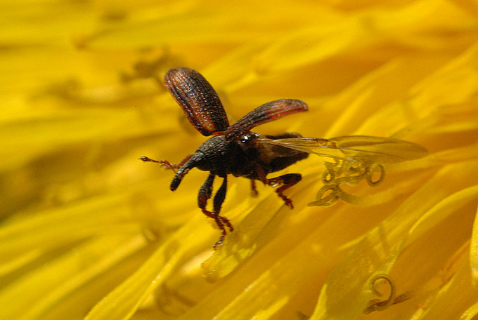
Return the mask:
<svg viewBox="0 0 478 320">
<path fill-rule="evenodd" d="M 265 142 L 334 159 L 373 164 L 394 164 L 420 159 L 428 150 L 413 142 L 368 135 L 324 138 L 285 138 Z"/>
</svg>

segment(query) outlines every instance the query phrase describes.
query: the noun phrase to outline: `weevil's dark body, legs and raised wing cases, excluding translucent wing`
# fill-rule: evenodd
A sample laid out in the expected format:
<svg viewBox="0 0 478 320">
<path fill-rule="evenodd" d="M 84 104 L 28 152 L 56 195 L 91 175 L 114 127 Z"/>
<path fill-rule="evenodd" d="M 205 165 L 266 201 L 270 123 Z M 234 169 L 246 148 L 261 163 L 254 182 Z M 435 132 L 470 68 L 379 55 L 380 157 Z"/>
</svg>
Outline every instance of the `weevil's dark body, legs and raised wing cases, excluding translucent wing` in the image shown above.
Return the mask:
<svg viewBox="0 0 478 320">
<path fill-rule="evenodd" d="M 280 119 L 288 114 L 307 111 L 307 105 L 301 100 L 281 99 L 267 102 L 253 109 L 233 125 L 229 125 L 224 107 L 214 88 L 199 72 L 188 68 L 170 69 L 164 76 L 164 84 L 186 114 L 190 123 L 202 135 L 213 135 L 179 164 L 170 164 L 165 160 L 153 160 L 142 156 L 143 161 L 155 162 L 176 170 L 170 189 L 176 190 L 184 176 L 192 169 L 209 171 L 209 176 L 198 193 L 198 206 L 202 213 L 214 219 L 221 236 L 214 248 L 221 245 L 233 226 L 228 219 L 219 215 L 226 197 L 227 175 L 244 177 L 251 180 L 252 192 L 257 194 L 255 180 L 264 185 L 277 187 L 278 196 L 285 205 L 293 208 L 292 201 L 283 192 L 302 179 L 300 173 L 288 173 L 276 178 L 266 175 L 280 171 L 295 162 L 305 159 L 309 153 L 272 145 L 269 140 L 287 140 L 302 138 L 299 133 L 281 133 L 279 135 L 260 135 L 250 131 L 255 126 Z M 214 178 L 222 178 L 222 185 L 212 201 L 212 211 L 207 210 L 207 201 L 212 197 Z"/>
</svg>

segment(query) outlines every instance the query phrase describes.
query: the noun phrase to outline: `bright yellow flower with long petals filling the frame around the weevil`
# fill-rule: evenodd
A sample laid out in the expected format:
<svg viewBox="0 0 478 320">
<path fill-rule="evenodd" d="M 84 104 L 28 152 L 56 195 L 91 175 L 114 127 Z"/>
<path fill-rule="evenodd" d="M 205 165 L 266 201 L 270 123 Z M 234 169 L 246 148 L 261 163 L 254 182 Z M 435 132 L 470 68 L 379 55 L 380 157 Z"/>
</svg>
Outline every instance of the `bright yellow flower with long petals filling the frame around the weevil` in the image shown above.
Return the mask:
<svg viewBox="0 0 478 320">
<path fill-rule="evenodd" d="M 117 2 L 2 6 L 1 317 L 478 314 L 477 4 Z M 213 251 L 219 230 L 197 207 L 207 174 L 172 193 L 172 171 L 138 160 L 179 162 L 205 140 L 162 85 L 182 66 L 211 82 L 231 123 L 271 100 L 309 105 L 259 133 L 429 152 L 380 164 L 380 185 L 340 185 L 333 206 L 307 206 L 330 178 L 324 156 L 285 170 L 302 173 L 292 211 L 230 177 L 221 215 L 235 230 Z"/>
</svg>

